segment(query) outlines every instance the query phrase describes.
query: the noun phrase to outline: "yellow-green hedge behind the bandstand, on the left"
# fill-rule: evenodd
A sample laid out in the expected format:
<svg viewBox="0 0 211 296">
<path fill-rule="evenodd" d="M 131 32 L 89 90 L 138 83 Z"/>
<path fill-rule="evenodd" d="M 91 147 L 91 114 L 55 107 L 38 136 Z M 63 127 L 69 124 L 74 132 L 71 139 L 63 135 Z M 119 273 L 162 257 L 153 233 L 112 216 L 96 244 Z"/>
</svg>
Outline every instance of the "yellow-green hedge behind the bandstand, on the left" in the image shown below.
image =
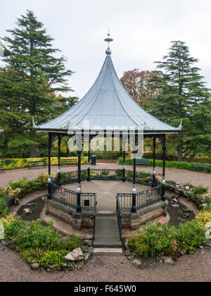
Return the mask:
<svg viewBox="0 0 211 296">
<path fill-rule="evenodd" d="M 61 159 L 67 159 L 68 157 L 61 157 Z M 74 157 L 73 157 L 74 158 Z M 69 159 L 72 159 L 70 157 Z M 44 161 L 46 164 L 48 164 L 49 159 L 48 157 L 43 158 L 36 158 L 36 159 L 1 159 L 0 164 L 4 165 L 4 169 L 14 169 L 14 168 L 27 168 L 28 162 L 30 161 Z M 82 157 L 82 164 L 88 163 L 88 157 Z M 58 157 L 51 157 L 51 165 L 56 166 L 58 165 Z"/>
</svg>

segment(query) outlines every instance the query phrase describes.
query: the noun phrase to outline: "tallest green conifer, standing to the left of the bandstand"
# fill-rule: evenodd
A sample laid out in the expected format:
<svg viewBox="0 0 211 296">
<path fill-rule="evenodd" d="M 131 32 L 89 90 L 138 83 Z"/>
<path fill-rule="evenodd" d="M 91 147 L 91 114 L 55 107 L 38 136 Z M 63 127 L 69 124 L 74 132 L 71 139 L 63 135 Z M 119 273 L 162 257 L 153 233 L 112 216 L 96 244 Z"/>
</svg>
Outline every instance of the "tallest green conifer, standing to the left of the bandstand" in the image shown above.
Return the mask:
<svg viewBox="0 0 211 296">
<path fill-rule="evenodd" d="M 2 58 L 6 66 L 0 73 L 0 127 L 5 131 L 1 148 L 25 151 L 30 145 L 30 157 L 35 157 L 33 121 L 47 121 L 62 113 L 62 107 L 75 104 L 75 97 L 56 97 L 58 92 L 72 91 L 68 87 L 72 71 L 65 68 L 65 57 L 58 57 L 53 39 L 32 11 L 18 18 L 17 27 L 7 32 Z"/>
</svg>

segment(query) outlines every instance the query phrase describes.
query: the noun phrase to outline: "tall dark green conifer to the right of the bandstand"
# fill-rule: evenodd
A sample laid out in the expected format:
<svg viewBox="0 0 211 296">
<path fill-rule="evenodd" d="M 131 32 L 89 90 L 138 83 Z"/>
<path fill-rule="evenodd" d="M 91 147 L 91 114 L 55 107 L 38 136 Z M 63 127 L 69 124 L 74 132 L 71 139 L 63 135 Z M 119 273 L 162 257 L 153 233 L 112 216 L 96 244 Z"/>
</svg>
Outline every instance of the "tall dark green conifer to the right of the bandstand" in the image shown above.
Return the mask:
<svg viewBox="0 0 211 296">
<path fill-rule="evenodd" d="M 197 58 L 190 56 L 185 42 L 173 41 L 169 54 L 163 61 L 155 62 L 163 71 L 153 71 L 150 80 L 152 90 L 160 90 L 158 97 L 151 99 L 151 113 L 175 126 L 183 121 L 183 130 L 174 140 L 178 161 L 193 159 L 211 143 L 210 128 L 207 128 L 210 126 L 210 90 L 199 74 L 200 68 L 194 66 L 197 62 Z"/>
</svg>

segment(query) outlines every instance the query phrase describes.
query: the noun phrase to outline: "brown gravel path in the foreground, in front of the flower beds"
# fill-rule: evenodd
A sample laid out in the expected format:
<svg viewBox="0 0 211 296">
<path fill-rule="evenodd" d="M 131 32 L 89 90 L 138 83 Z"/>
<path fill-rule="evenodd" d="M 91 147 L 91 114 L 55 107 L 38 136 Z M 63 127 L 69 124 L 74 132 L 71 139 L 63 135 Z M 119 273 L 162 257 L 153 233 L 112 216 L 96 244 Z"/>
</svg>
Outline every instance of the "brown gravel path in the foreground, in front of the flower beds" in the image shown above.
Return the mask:
<svg viewBox="0 0 211 296">
<path fill-rule="evenodd" d="M 179 258 L 172 266 L 155 264 L 136 269 L 123 256 L 94 257 L 80 271 L 69 273 L 32 271 L 18 254 L 0 243 L 1 282 L 202 282 L 211 281 L 211 249 Z"/>
</svg>

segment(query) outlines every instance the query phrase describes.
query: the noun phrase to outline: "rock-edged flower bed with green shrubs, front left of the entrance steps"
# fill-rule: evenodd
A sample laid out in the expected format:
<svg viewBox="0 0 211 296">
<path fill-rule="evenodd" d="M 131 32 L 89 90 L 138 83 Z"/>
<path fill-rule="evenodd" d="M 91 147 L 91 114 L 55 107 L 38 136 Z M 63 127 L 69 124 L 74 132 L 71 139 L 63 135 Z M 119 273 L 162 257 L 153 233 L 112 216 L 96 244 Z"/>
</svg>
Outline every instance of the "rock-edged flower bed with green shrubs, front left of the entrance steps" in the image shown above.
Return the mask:
<svg viewBox="0 0 211 296">
<path fill-rule="evenodd" d="M 37 221 L 22 221 L 20 217 L 11 214 L 1 218 L 4 224 L 4 243 L 14 249 L 32 269 L 74 270 L 84 265 L 92 253 L 92 242 L 75 235 L 62 238 L 58 231 L 50 226 L 42 226 L 41 219 Z M 65 256 L 72 250 L 81 248 L 84 260 L 68 262 Z"/>
</svg>

